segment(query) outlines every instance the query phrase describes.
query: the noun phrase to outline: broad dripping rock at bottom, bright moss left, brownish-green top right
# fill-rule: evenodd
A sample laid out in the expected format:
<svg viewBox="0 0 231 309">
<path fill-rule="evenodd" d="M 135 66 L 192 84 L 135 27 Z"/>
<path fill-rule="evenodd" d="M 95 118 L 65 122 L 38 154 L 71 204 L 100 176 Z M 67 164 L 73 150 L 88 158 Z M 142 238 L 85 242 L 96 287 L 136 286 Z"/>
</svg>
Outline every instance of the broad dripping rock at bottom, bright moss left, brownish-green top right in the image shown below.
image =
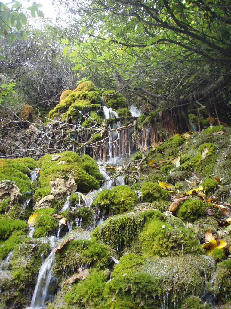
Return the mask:
<svg viewBox="0 0 231 309">
<path fill-rule="evenodd" d="M 134 267 L 123 267 L 129 265 L 129 258 L 134 260 L 128 256 L 115 266 L 115 276 L 104 286 L 99 308 L 123 308 L 124 304 L 124 308 L 138 309 L 141 303 L 145 309 L 174 308 L 189 295 L 201 295 L 205 277 L 211 275 L 210 261 L 202 256 L 152 258 Z M 121 269 L 118 273 L 117 268 Z"/>
</svg>

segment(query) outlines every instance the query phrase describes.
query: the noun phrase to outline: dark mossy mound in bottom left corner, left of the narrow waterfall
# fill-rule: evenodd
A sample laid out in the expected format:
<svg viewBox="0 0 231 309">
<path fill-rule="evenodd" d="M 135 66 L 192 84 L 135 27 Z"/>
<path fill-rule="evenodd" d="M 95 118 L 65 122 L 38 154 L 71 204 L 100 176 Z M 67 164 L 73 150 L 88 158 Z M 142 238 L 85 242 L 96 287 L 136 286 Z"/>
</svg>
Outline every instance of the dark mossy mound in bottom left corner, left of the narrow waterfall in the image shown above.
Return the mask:
<svg viewBox="0 0 231 309">
<path fill-rule="evenodd" d="M 50 252 L 47 243 L 27 239 L 14 248 L 10 262 L 10 273 L 6 280 L 0 282 L 1 308 L 25 308 L 30 305 L 39 269 L 42 264 L 42 255 L 46 258 Z"/>
</svg>

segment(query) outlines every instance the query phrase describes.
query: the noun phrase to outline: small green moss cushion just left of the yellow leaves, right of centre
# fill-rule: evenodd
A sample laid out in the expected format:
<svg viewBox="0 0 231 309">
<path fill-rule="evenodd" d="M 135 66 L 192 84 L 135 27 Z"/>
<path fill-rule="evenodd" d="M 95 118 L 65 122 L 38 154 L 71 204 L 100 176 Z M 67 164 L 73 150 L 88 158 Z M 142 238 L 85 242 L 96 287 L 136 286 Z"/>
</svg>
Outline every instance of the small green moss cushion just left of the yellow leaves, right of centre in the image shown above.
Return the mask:
<svg viewBox="0 0 231 309">
<path fill-rule="evenodd" d="M 141 200 L 152 202 L 155 200 L 169 200 L 169 193 L 160 187 L 159 184 L 153 182 L 146 182 L 141 186 Z"/>
</svg>

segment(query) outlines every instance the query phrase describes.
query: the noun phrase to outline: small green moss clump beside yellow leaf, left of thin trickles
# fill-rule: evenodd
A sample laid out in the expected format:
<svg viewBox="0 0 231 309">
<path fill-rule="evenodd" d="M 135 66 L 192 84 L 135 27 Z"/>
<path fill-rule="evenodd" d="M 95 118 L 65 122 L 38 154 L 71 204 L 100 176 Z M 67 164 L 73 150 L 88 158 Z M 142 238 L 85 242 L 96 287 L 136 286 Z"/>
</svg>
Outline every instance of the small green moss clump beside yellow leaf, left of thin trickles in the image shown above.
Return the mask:
<svg viewBox="0 0 231 309">
<path fill-rule="evenodd" d="M 34 237 L 44 237 L 47 234 L 53 234 L 58 228 L 58 223 L 55 218 L 49 216 L 49 214 L 42 214 L 39 216 L 35 223 Z"/>
</svg>

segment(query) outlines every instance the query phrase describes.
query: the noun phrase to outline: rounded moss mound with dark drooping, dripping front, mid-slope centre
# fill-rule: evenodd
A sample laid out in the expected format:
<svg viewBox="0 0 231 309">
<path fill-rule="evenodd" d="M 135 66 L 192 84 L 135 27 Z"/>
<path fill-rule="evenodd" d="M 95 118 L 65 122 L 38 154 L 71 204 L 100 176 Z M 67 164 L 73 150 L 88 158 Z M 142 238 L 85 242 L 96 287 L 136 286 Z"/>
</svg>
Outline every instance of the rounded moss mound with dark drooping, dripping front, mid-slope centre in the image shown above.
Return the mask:
<svg viewBox="0 0 231 309">
<path fill-rule="evenodd" d="M 121 252 L 131 246 L 133 239 L 142 231 L 144 222 L 152 217 L 165 220 L 158 210 L 115 215 L 97 226 L 92 237 Z"/>
</svg>

